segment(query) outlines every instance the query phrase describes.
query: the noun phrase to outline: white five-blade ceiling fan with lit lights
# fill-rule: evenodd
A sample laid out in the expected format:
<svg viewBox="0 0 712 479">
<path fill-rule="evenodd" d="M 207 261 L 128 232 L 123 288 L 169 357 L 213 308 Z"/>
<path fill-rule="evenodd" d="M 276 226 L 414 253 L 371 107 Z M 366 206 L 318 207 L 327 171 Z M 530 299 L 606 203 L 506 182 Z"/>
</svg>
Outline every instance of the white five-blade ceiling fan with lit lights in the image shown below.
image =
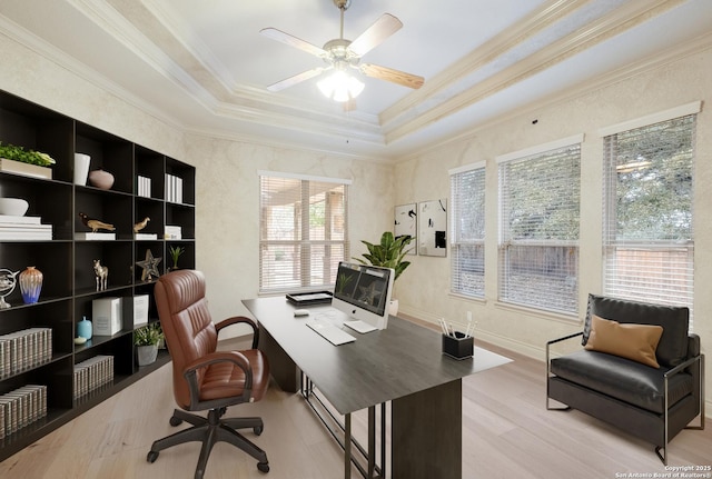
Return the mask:
<svg viewBox="0 0 712 479">
<path fill-rule="evenodd" d="M 348 78 L 348 73 L 352 70 L 359 71 L 367 77 L 390 81 L 408 88 L 418 89 L 423 86 L 423 77 L 398 71 L 393 68 L 380 67 L 372 63 L 360 63 L 360 58 L 364 54 L 373 50 L 375 47 L 380 44 L 384 40 L 386 40 L 403 27 L 400 20 L 389 13 L 384 13 L 378 20 L 376 20 L 370 27 L 368 27 L 366 31 L 364 31 L 358 38 L 356 38 L 356 40 L 346 40 L 344 39 L 344 12 L 346 12 L 348 7 L 350 7 L 352 0 L 333 1 L 334 4 L 340 10 L 340 36 L 337 39 L 327 41 L 323 48 L 304 41 L 289 33 L 285 33 L 284 31 L 277 30 L 276 28 L 265 28 L 260 30 L 260 33 L 265 37 L 280 41 L 291 47 L 296 47 L 300 50 L 322 58 L 327 63 L 326 67 L 314 68 L 312 70 L 304 71 L 301 73 L 295 74 L 294 77 L 289 77 L 285 80 L 273 83 L 267 87 L 267 90 L 284 90 L 285 88 L 300 83 L 327 71 L 334 71 L 336 76 L 342 77 L 342 81 L 347 81 L 346 78 Z M 356 79 L 354 79 L 354 81 L 355 83 L 352 84 L 360 83 Z M 332 97 L 336 101 L 342 102 L 353 100 L 358 93 L 360 93 L 360 90 L 363 90 L 363 83 L 360 83 L 359 88 L 344 90 L 340 93 L 330 90 L 329 94 L 329 92 L 327 92 L 324 87 L 328 88 L 325 80 L 319 82 L 319 89 L 322 89 L 324 94 L 326 94 L 327 97 Z"/>
</svg>

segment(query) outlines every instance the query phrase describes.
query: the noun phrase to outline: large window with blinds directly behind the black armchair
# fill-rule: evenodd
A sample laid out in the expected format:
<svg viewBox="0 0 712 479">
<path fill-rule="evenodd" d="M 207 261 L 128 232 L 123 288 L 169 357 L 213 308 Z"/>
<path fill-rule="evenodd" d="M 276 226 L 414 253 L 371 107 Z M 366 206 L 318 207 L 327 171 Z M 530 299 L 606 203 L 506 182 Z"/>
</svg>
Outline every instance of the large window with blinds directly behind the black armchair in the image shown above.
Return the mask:
<svg viewBox="0 0 712 479">
<path fill-rule="evenodd" d="M 695 118 L 604 137 L 606 295 L 692 312 Z"/>
</svg>

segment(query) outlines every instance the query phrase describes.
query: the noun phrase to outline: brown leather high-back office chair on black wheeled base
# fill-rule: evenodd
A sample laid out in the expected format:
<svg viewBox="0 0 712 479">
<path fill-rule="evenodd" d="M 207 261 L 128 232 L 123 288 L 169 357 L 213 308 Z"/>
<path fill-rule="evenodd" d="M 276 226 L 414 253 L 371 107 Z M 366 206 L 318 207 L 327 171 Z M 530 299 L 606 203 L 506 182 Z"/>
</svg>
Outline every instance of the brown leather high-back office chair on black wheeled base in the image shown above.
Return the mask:
<svg viewBox="0 0 712 479">
<path fill-rule="evenodd" d="M 269 471 L 267 455 L 236 429 L 264 429 L 260 418 L 225 418 L 228 406 L 258 401 L 267 391 L 269 363 L 257 349 L 259 329 L 249 318 L 234 317 L 214 325 L 205 297 L 205 277 L 200 271 L 177 270 L 161 276 L 154 296 L 158 317 L 172 358 L 174 396 L 180 409 L 174 411 L 171 426 L 192 425 L 154 442 L 147 460 L 154 462 L 159 451 L 184 442 L 200 441 L 202 449 L 196 479 L 202 478 L 217 441 L 229 442 L 258 460 L 257 469 Z M 216 351 L 218 332 L 230 325 L 253 327 L 253 349 Z M 207 418 L 187 411 L 208 411 Z"/>
</svg>

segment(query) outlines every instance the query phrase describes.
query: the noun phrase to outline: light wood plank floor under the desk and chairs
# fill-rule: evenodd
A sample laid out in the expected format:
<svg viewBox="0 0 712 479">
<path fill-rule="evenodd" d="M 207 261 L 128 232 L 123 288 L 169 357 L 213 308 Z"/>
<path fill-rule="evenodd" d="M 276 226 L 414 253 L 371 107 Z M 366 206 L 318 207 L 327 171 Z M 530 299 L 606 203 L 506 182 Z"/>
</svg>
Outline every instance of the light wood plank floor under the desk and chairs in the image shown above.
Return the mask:
<svg viewBox="0 0 712 479">
<path fill-rule="evenodd" d="M 614 479 L 666 472 L 649 443 L 577 411 L 546 411 L 542 362 L 481 346 L 514 361 L 463 382 L 464 478 Z M 146 461 L 152 441 L 174 429 L 168 425 L 170 381 L 167 365 L 1 462 L 0 478 L 192 478 L 196 442 L 161 451 L 155 463 Z M 265 432 L 246 436 L 267 451 L 271 470 L 263 475 L 250 457 L 218 443 L 206 479 L 344 477 L 340 449 L 298 395 L 273 383 L 263 401 L 234 407 L 228 415 L 264 418 Z M 354 421 L 358 433 L 360 421 Z M 669 467 L 712 465 L 712 427 L 682 431 L 669 455 Z M 358 477 L 355 470 L 353 477 Z"/>
</svg>

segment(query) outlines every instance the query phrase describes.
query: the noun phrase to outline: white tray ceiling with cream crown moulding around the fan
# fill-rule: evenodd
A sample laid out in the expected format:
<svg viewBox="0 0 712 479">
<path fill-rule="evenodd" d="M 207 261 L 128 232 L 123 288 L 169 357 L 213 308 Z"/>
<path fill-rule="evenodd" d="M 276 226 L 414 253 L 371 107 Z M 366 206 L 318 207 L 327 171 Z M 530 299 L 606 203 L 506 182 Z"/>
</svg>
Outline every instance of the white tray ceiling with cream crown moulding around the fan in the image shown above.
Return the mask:
<svg viewBox="0 0 712 479">
<path fill-rule="evenodd" d="M 266 90 L 323 62 L 259 30 L 322 47 L 333 0 L 0 0 L 0 32 L 186 131 L 388 159 L 669 60 L 712 26 L 710 0 L 352 0 L 345 38 L 385 12 L 404 27 L 364 62 L 425 84 L 365 78 L 352 111 L 318 78 Z"/>
</svg>

